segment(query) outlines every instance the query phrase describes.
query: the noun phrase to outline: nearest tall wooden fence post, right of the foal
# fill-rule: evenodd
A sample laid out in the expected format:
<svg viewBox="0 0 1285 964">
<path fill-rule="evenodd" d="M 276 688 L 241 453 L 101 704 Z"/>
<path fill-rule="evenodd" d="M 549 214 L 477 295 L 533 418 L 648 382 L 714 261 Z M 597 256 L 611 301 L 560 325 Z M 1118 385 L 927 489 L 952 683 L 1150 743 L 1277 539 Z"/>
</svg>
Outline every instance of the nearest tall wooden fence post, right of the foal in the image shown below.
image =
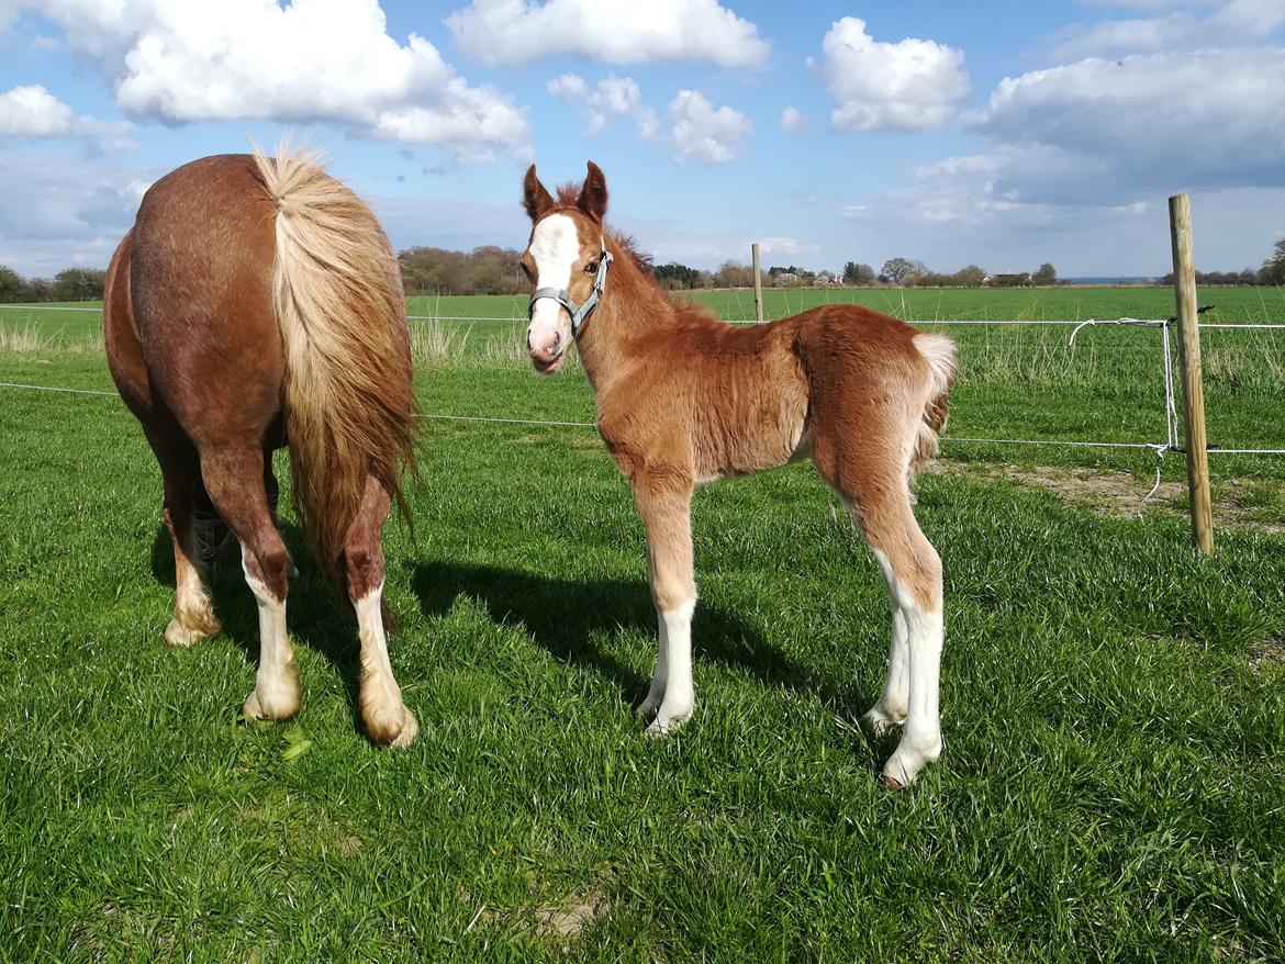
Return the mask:
<svg viewBox="0 0 1285 964">
<path fill-rule="evenodd" d="M 1200 370 L 1200 316 L 1196 311 L 1196 267 L 1191 248 L 1191 199 L 1169 198 L 1173 240 L 1173 297 L 1177 302 L 1178 356 L 1182 361 L 1182 411 L 1186 425 L 1187 501 L 1191 539 L 1201 553 L 1213 551 L 1213 508 L 1209 499 L 1209 449 L 1204 425 L 1204 377 Z"/>
</svg>

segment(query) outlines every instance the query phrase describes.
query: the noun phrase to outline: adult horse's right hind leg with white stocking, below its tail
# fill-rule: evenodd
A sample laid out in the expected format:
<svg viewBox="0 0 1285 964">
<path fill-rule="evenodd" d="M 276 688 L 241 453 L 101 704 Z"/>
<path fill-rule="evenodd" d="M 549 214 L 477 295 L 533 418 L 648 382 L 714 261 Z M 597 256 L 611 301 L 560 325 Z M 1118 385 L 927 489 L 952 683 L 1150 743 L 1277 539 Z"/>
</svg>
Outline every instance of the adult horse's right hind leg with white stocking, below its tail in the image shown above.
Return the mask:
<svg viewBox="0 0 1285 964">
<path fill-rule="evenodd" d="M 361 638 L 361 719 L 366 733 L 375 743 L 409 747 L 415 742 L 419 724 L 402 702 L 384 635 L 384 550 L 379 533 L 388 508 L 388 494 L 375 478 L 368 477 L 361 508 L 344 540 L 343 567 Z"/>
</svg>

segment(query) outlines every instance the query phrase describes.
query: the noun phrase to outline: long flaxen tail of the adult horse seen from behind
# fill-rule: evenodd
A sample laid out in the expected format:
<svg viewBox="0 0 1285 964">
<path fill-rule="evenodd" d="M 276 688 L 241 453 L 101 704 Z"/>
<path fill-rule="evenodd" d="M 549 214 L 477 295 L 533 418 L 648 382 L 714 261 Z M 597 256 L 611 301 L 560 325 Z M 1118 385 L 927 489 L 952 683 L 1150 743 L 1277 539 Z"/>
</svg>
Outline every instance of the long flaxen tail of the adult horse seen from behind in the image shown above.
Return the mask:
<svg viewBox="0 0 1285 964">
<path fill-rule="evenodd" d="M 406 302 L 392 247 L 374 213 L 281 144 L 254 163 L 276 204 L 276 321 L 285 350 L 283 401 L 294 505 L 332 578 L 374 476 L 407 515 L 414 470 Z"/>
</svg>

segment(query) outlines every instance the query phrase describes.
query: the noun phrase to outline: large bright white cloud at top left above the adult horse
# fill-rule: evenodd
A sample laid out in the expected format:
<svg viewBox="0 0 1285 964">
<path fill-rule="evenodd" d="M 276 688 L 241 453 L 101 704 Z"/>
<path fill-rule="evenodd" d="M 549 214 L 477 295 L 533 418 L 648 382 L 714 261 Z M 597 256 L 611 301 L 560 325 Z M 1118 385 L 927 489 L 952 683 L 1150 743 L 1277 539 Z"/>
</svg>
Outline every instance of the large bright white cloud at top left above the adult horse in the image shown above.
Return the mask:
<svg viewBox="0 0 1285 964">
<path fill-rule="evenodd" d="M 398 44 L 377 0 L 19 0 L 94 59 L 117 104 L 164 122 L 333 122 L 357 135 L 523 152 L 526 116 L 436 46 Z"/>
</svg>

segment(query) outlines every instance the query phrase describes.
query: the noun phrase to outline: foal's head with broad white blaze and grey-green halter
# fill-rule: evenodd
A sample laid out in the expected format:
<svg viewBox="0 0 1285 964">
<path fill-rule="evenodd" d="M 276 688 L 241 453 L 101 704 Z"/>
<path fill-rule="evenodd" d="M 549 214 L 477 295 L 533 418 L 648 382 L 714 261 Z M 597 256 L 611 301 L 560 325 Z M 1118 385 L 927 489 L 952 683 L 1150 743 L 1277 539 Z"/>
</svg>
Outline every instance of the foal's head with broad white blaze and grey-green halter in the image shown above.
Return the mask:
<svg viewBox="0 0 1285 964">
<path fill-rule="evenodd" d="M 523 202 L 531 215 L 531 240 L 522 270 L 531 279 L 527 348 L 537 371 L 553 374 L 601 296 L 610 254 L 604 257 L 607 179 L 592 161 L 580 194 L 563 189 L 558 199 L 527 170 Z"/>
</svg>

